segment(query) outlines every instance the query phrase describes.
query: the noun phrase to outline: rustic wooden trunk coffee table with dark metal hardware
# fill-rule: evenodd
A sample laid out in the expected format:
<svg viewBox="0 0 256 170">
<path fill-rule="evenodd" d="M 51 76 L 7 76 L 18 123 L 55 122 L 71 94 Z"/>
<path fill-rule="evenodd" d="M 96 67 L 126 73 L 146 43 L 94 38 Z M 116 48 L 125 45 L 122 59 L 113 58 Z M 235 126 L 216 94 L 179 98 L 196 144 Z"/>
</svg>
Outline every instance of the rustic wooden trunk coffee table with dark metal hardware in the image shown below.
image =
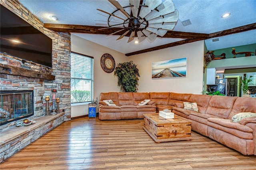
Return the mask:
<svg viewBox="0 0 256 170">
<path fill-rule="evenodd" d="M 191 121 L 178 115 L 164 119 L 159 113 L 146 113 L 143 128 L 157 143 L 192 139 Z"/>
</svg>

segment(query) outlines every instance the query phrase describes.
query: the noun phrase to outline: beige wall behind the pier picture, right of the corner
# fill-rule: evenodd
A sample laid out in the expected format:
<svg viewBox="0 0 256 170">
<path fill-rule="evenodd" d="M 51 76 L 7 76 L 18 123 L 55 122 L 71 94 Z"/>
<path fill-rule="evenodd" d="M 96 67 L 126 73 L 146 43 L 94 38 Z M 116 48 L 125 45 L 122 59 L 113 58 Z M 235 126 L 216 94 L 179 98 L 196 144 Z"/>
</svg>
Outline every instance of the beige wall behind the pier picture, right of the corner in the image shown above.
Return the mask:
<svg viewBox="0 0 256 170">
<path fill-rule="evenodd" d="M 137 64 L 138 92 L 176 92 L 202 94 L 204 41 L 186 43 L 128 57 Z M 187 77 L 152 79 L 152 62 L 187 57 Z"/>
</svg>

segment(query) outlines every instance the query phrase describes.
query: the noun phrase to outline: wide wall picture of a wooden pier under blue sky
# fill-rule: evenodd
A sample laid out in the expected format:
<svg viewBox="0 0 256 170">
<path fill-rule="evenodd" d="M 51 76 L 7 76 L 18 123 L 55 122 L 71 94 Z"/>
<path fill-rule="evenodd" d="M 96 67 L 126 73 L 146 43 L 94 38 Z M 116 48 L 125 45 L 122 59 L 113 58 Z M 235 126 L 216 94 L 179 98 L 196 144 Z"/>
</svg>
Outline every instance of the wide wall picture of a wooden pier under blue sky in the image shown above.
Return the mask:
<svg viewBox="0 0 256 170">
<path fill-rule="evenodd" d="M 186 77 L 187 58 L 170 59 L 152 63 L 152 79 Z"/>
</svg>

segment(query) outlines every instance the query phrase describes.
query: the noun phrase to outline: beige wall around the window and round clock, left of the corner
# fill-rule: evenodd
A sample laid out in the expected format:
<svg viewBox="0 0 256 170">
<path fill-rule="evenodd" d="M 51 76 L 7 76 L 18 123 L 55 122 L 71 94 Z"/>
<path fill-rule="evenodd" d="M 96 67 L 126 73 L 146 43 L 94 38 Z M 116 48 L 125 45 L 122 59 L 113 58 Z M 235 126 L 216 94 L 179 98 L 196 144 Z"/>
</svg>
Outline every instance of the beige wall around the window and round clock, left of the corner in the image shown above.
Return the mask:
<svg viewBox="0 0 256 170">
<path fill-rule="evenodd" d="M 100 58 L 104 53 L 109 53 L 114 57 L 117 65 L 127 59 L 124 54 L 84 40 L 73 34 L 71 34 L 71 51 L 94 57 L 94 100 L 96 100 L 97 97 L 99 99 L 101 92 L 120 91 L 120 88 L 117 86 L 117 78 L 114 77 L 114 71 L 112 73 L 103 71 L 100 66 Z M 82 115 L 88 115 L 88 105 L 71 107 L 71 117 Z"/>
</svg>

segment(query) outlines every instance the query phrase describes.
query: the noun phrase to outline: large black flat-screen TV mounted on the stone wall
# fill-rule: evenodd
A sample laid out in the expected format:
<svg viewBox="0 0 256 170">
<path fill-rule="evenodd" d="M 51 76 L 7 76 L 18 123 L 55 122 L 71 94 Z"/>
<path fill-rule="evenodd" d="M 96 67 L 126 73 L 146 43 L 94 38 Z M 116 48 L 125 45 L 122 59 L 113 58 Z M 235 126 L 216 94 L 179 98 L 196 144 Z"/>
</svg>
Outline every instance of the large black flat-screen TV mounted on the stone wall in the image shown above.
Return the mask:
<svg viewBox="0 0 256 170">
<path fill-rule="evenodd" d="M 52 67 L 52 39 L 1 5 L 0 51 Z"/>
</svg>

